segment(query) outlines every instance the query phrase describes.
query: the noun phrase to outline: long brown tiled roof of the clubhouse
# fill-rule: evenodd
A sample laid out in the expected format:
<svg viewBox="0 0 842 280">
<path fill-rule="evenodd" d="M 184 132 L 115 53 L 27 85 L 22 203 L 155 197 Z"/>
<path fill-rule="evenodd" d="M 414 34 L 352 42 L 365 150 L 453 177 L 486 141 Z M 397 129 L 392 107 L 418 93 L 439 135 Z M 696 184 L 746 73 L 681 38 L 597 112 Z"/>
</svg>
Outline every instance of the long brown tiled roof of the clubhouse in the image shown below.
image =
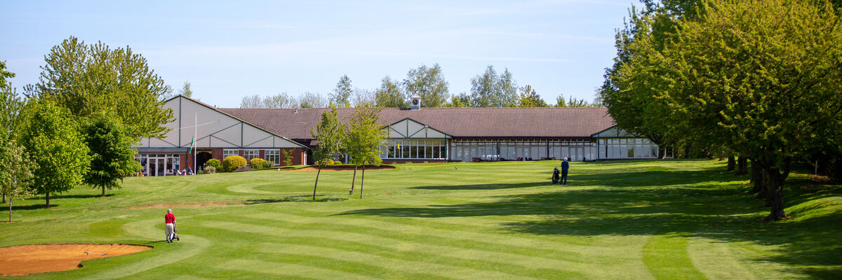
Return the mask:
<svg viewBox="0 0 842 280">
<path fill-rule="evenodd" d="M 327 108 L 219 108 L 249 124 L 293 140 L 312 139 Z M 354 108 L 338 108 L 349 119 Z M 613 126 L 606 108 L 384 108 L 381 124 L 414 119 L 453 137 L 590 137 Z"/>
</svg>

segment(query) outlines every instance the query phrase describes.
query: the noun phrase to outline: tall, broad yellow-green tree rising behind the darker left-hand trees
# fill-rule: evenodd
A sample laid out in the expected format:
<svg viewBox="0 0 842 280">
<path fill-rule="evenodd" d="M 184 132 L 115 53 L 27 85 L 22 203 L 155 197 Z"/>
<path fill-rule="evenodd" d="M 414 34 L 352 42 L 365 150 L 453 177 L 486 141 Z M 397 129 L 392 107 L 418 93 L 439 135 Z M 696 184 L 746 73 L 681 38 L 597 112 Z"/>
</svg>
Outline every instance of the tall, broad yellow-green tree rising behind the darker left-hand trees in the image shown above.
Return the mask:
<svg viewBox="0 0 842 280">
<path fill-rule="evenodd" d="M 45 55 L 39 82 L 26 88 L 30 98 L 49 100 L 82 119 L 110 114 L 120 119 L 132 137 L 163 137 L 162 124 L 173 119 L 161 97 L 172 89 L 147 65 L 147 59 L 101 42 L 87 45 L 75 37 Z"/>
</svg>

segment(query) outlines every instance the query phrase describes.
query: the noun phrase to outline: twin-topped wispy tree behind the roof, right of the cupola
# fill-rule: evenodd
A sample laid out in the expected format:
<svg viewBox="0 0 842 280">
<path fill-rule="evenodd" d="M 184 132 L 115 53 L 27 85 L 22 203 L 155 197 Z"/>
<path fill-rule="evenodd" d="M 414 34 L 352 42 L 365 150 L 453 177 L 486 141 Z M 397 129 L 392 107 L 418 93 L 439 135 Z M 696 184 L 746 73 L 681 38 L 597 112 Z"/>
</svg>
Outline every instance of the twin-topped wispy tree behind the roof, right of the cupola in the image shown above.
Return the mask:
<svg viewBox="0 0 842 280">
<path fill-rule="evenodd" d="M 472 107 L 514 107 L 518 101 L 516 88 L 509 69 L 498 76 L 494 66 L 488 66 L 482 75 L 471 78 Z"/>
</svg>

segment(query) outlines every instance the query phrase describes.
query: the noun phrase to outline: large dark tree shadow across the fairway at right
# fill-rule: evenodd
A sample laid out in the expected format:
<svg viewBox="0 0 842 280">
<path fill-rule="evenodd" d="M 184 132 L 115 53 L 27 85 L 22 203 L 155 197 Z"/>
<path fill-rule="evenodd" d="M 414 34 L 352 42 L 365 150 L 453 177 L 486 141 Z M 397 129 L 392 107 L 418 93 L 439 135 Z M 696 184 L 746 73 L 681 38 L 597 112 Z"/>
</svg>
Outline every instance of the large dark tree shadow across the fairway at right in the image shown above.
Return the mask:
<svg viewBox="0 0 842 280">
<path fill-rule="evenodd" d="M 762 200 L 744 193 L 750 185 L 728 183 L 719 168 L 699 171 L 648 171 L 595 174 L 571 179 L 578 186 L 545 193 L 498 197 L 497 201 L 414 208 L 359 209 L 340 215 L 440 218 L 524 216 L 500 224 L 511 232 L 535 235 L 685 235 L 724 242 L 749 241 L 775 248 L 759 262 L 786 264 L 809 277 L 842 277 L 842 214 L 811 219 L 763 222 Z M 576 182 L 578 181 L 578 182 Z M 539 183 L 416 187 L 429 189 L 525 188 Z M 787 206 L 827 196 L 842 196 L 839 186 L 817 186 L 809 180 L 785 184 Z M 537 219 L 535 219 L 537 217 Z"/>
</svg>

